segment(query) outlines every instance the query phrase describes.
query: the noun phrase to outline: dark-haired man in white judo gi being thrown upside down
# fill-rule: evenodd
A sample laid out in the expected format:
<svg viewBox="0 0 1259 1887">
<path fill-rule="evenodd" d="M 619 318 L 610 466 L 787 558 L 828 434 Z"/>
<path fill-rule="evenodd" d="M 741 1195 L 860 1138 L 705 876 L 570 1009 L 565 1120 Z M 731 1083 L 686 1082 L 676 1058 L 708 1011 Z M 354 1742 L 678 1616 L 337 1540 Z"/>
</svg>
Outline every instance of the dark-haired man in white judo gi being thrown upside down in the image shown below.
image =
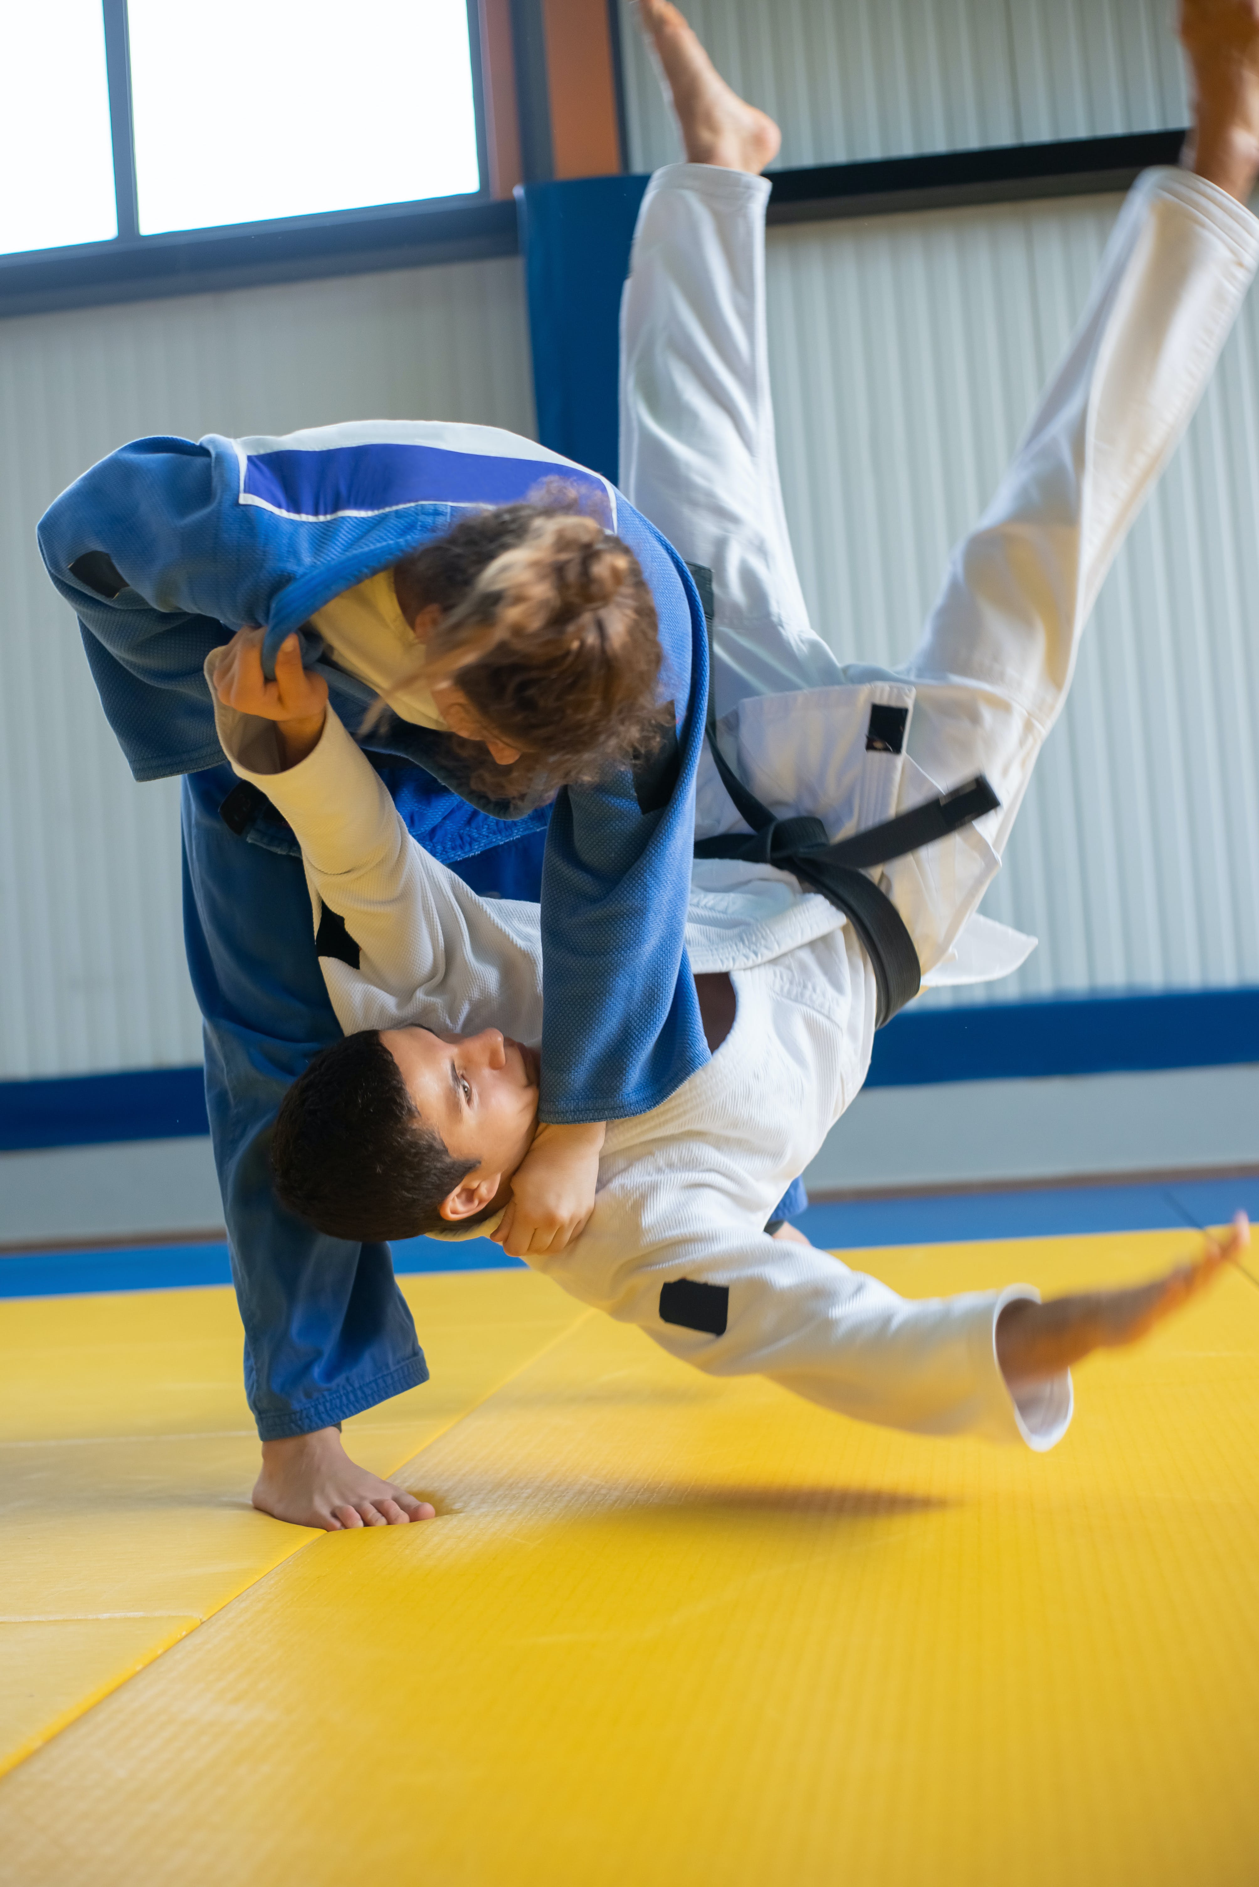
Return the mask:
<svg viewBox="0 0 1259 1887">
<path fill-rule="evenodd" d="M 1238 189 L 1229 174 L 1225 189 L 1189 170 L 1155 170 L 1136 183 L 1067 357 L 988 513 L 956 551 L 918 651 L 899 670 L 841 668 L 807 621 L 775 462 L 769 185 L 756 174 L 773 157 L 773 126 L 733 100 L 673 8 L 645 13 L 688 151 L 703 160 L 658 172 L 643 202 L 624 302 L 622 485 L 712 570 L 720 743 L 777 817 L 816 815 L 839 840 L 988 777 L 997 810 L 884 866 L 878 881 L 908 927 L 924 981 L 1006 974 L 1031 940 L 976 908 L 1061 710 L 1103 576 L 1259 262 L 1259 223 L 1236 200 L 1248 179 Z M 364 1236 L 481 1232 L 509 1196 L 535 1123 L 537 908 L 481 900 L 407 836 L 324 710 L 320 685 L 303 676 L 296 643 L 271 685 L 247 634 L 217 651 L 207 674 L 236 772 L 298 834 L 313 923 L 328 902 L 360 951 L 358 966 L 322 960 L 349 1040 L 290 1091 L 277 1185 L 343 1234 L 332 1223 L 341 1215 L 335 1176 L 358 1162 L 377 1202 L 347 1210 L 401 1215 L 362 1225 Z M 707 757 L 697 836 L 735 830 L 746 827 Z M 1240 1225 L 1167 1279 L 1035 1310 L 1037 1293 L 1018 1283 L 903 1300 L 826 1253 L 767 1236 L 784 1187 L 865 1079 L 873 966 L 831 902 L 788 872 L 737 859 L 697 860 L 688 949 L 712 1057 L 663 1106 L 611 1123 L 584 1234 L 537 1262 L 697 1368 L 758 1372 L 867 1421 L 1046 1449 L 1071 1419 L 1067 1366 L 1140 1334 L 1244 1242 Z M 373 1177 L 362 1140 L 371 1102 L 356 1113 L 347 1098 L 337 1113 L 347 1070 L 392 1085 L 403 1115 L 418 1113 L 452 1161 L 449 1185 L 418 1217 L 388 1162 L 375 1161 Z M 392 1511 L 375 1502 L 324 1523 L 426 1511 L 400 1495 Z"/>
</svg>

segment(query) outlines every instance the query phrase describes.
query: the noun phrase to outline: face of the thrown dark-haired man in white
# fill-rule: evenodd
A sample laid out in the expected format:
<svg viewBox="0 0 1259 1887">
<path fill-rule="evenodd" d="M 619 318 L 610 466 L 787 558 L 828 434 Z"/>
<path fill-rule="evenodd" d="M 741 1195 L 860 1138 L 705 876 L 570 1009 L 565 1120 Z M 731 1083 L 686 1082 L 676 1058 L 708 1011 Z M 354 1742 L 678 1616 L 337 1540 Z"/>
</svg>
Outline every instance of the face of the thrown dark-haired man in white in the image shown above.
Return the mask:
<svg viewBox="0 0 1259 1887">
<path fill-rule="evenodd" d="M 441 1208 L 458 1221 L 482 1211 L 505 1189 L 537 1130 L 537 1051 L 501 1028 L 447 1036 L 432 1028 L 383 1028 L 407 1093 L 454 1159 L 475 1161 Z"/>
</svg>

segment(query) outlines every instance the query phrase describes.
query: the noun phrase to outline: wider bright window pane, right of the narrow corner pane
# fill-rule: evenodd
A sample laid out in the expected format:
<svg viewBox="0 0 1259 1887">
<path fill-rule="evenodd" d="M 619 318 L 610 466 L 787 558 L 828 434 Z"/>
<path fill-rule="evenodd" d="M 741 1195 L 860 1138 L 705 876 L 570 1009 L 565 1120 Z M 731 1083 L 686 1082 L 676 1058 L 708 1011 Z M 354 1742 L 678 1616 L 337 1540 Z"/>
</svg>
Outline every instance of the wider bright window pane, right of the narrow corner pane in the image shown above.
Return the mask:
<svg viewBox="0 0 1259 1887">
<path fill-rule="evenodd" d="M 145 236 L 481 187 L 466 0 L 130 0 L 128 32 Z"/>
</svg>

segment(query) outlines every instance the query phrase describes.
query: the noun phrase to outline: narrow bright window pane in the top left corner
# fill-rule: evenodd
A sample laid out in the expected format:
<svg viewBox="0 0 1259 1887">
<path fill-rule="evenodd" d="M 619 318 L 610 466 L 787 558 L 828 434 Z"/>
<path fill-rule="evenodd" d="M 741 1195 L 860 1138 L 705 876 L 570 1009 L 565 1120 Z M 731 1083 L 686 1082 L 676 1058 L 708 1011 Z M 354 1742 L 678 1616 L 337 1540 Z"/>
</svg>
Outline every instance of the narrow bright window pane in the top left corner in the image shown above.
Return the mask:
<svg viewBox="0 0 1259 1887">
<path fill-rule="evenodd" d="M 0 251 L 117 236 L 100 0 L 6 8 Z"/>
</svg>

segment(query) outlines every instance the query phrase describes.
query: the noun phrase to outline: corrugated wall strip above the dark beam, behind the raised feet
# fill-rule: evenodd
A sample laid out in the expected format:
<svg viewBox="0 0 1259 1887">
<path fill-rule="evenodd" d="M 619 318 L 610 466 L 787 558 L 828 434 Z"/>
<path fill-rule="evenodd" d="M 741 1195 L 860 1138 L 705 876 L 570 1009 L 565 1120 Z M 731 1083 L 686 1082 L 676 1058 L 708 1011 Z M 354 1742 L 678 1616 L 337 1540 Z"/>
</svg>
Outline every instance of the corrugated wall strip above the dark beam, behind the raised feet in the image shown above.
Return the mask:
<svg viewBox="0 0 1259 1887">
<path fill-rule="evenodd" d="M 680 157 L 622 6 L 633 170 Z M 780 166 L 1184 125 L 1170 0 L 688 0 L 718 68 L 782 125 Z"/>
</svg>

